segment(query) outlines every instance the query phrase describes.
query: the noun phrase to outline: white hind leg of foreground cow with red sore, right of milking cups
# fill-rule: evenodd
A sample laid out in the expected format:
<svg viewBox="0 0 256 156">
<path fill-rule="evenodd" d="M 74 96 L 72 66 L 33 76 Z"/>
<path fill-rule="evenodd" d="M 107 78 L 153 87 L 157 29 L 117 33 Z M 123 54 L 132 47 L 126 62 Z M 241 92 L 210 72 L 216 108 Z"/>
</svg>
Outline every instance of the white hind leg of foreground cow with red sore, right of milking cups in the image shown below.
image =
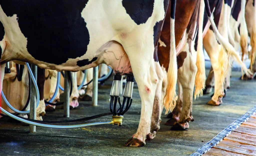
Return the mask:
<svg viewBox="0 0 256 156">
<path fill-rule="evenodd" d="M 139 48 L 136 47 L 133 49 L 133 51 L 136 51 L 137 49 Z M 143 51 L 149 50 L 145 49 Z M 127 55 L 129 57 L 129 53 L 127 53 Z M 154 66 L 153 51 L 152 58 L 149 58 L 150 56 L 150 53 L 144 53 L 143 55 L 142 53 L 136 52 L 132 53 L 132 55 L 129 57 L 133 75 L 138 85 L 138 90 L 141 97 L 141 116 L 137 132 L 130 140 L 126 142 L 126 146 L 144 146 L 146 144 L 146 136 L 150 134 L 151 116 L 156 85 L 158 82 L 158 76 Z M 137 60 L 137 58 L 142 59 Z M 141 68 L 138 68 L 138 63 L 142 65 Z"/>
</svg>

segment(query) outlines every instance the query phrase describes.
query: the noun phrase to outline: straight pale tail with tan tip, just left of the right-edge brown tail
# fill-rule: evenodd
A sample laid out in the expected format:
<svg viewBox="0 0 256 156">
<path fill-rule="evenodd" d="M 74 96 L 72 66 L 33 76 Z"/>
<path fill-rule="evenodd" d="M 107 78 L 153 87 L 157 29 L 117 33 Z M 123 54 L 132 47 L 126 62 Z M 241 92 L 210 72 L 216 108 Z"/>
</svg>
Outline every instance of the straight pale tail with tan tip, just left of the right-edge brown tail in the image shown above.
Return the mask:
<svg viewBox="0 0 256 156">
<path fill-rule="evenodd" d="M 248 31 L 245 21 L 245 4 L 246 0 L 242 0 L 241 3 L 241 25 L 240 25 L 240 47 L 242 53 L 242 61 L 244 54 L 248 55 Z"/>
</svg>

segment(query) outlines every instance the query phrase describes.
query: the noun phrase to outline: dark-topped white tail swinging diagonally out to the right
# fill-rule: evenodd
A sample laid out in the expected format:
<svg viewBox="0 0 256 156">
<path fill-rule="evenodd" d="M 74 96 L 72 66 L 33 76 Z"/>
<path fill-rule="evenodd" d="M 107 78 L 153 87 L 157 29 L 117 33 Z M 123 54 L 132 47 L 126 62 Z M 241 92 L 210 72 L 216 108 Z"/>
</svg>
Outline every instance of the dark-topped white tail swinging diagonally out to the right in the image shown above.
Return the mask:
<svg viewBox="0 0 256 156">
<path fill-rule="evenodd" d="M 214 20 L 211 16 L 211 11 L 210 11 L 210 6 L 209 6 L 209 1 L 208 0 L 204 0 L 205 1 L 205 8 L 206 8 L 206 13 L 207 13 L 207 16 L 209 18 L 209 21 L 212 25 L 212 28 L 213 28 L 213 31 L 214 31 L 214 34 L 217 38 L 217 40 L 219 41 L 219 43 L 222 45 L 222 47 L 224 48 L 225 52 L 230 56 L 233 57 L 233 59 L 235 61 L 237 61 L 242 70 L 246 73 L 246 75 L 250 76 L 252 73 L 246 68 L 246 65 L 243 63 L 242 60 L 240 60 L 238 54 L 236 53 L 236 50 L 234 49 L 234 47 L 228 42 L 225 40 L 225 38 L 223 36 L 221 36 L 221 34 L 219 33 L 215 23 L 214 23 Z M 226 1 L 226 0 L 225 0 Z"/>
</svg>

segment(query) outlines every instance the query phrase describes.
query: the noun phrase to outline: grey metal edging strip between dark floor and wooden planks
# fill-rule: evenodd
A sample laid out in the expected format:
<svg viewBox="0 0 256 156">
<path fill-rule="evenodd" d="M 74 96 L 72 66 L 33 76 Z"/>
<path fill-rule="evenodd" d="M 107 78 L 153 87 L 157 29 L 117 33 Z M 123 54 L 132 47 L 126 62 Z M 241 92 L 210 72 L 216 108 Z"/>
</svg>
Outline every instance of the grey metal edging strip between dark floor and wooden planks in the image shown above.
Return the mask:
<svg viewBox="0 0 256 156">
<path fill-rule="evenodd" d="M 252 107 L 245 114 L 240 116 L 236 121 L 231 123 L 227 128 L 221 131 L 218 135 L 212 138 L 209 142 L 198 148 L 190 156 L 199 156 L 210 150 L 213 146 L 217 145 L 224 137 L 228 136 L 234 129 L 239 127 L 243 122 L 248 120 L 252 114 L 256 112 L 256 106 Z"/>
</svg>

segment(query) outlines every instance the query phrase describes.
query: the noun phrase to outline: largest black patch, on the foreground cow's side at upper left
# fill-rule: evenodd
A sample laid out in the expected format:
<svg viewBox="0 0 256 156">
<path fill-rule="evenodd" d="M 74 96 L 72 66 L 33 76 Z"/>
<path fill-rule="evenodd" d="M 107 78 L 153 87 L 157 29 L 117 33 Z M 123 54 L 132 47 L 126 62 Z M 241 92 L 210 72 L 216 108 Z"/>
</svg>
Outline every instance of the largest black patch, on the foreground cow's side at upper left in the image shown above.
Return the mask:
<svg viewBox="0 0 256 156">
<path fill-rule="evenodd" d="M 29 54 L 40 61 L 62 64 L 87 51 L 90 37 L 81 17 L 87 2 L 8 0 L 0 5 L 7 16 L 17 15 Z"/>
</svg>

